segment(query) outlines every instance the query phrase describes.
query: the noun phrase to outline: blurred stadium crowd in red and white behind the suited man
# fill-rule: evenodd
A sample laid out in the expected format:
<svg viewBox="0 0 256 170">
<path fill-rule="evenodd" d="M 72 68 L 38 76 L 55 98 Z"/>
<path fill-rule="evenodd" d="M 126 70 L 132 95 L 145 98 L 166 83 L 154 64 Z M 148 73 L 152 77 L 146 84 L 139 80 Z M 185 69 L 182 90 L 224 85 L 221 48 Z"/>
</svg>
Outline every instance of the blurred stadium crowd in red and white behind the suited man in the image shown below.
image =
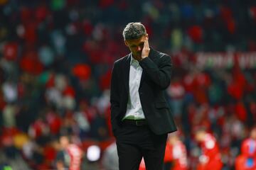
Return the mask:
<svg viewBox="0 0 256 170">
<path fill-rule="evenodd" d="M 0 168 L 18 155 L 30 169 L 62 166 L 68 135 L 84 169 L 105 169 L 112 64 L 129 52 L 122 29 L 132 21 L 174 62 L 166 96 L 189 169 L 198 164 L 200 128 L 215 136 L 223 169 L 234 169 L 256 124 L 256 65 L 198 68 L 194 54 L 255 52 L 252 0 L 0 0 Z M 87 157 L 91 145 L 101 149 L 97 160 Z"/>
</svg>

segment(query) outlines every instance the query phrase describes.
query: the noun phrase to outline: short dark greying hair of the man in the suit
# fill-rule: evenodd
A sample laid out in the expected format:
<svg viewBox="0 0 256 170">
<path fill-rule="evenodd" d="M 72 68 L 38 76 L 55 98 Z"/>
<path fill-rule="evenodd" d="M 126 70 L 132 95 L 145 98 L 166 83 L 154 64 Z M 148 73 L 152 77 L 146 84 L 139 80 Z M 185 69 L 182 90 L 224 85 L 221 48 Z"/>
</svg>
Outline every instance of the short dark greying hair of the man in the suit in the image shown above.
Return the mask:
<svg viewBox="0 0 256 170">
<path fill-rule="evenodd" d="M 146 28 L 142 23 L 128 23 L 123 30 L 124 40 L 134 40 L 146 35 Z"/>
</svg>

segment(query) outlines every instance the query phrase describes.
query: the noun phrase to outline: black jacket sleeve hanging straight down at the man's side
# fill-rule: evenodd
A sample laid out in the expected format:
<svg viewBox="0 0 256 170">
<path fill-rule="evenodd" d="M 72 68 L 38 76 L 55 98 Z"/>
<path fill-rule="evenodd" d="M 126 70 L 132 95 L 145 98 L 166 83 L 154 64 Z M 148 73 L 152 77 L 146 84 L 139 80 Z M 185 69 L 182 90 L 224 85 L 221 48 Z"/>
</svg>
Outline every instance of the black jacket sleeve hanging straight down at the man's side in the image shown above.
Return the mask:
<svg viewBox="0 0 256 170">
<path fill-rule="evenodd" d="M 119 94 L 119 70 L 117 68 L 117 62 L 114 62 L 114 66 L 112 69 L 112 77 L 111 77 L 111 86 L 110 86 L 110 109 L 111 109 L 111 124 L 112 131 L 117 128 L 117 120 L 116 116 L 119 113 L 120 107 L 120 94 Z"/>
</svg>

